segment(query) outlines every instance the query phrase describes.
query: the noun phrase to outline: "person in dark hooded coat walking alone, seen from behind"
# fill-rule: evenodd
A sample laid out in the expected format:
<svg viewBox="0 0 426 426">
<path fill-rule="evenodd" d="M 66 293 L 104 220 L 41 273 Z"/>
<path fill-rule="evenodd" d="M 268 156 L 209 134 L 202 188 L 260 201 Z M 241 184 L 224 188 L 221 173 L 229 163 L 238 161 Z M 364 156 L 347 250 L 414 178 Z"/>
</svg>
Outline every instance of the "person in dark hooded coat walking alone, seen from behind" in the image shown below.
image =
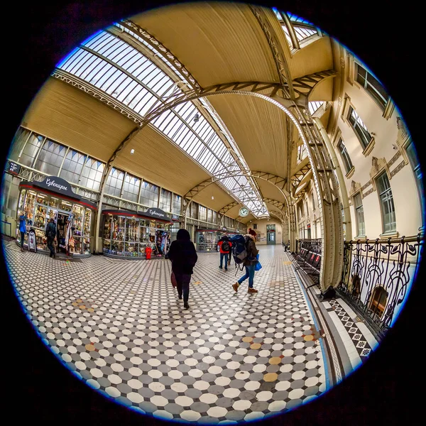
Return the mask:
<svg viewBox="0 0 426 426">
<path fill-rule="evenodd" d="M 188 309 L 190 307 L 188 305 L 190 280 L 198 256 L 194 243 L 191 241 L 190 233 L 186 229 L 179 229 L 176 240 L 170 244 L 168 258 L 172 261 L 172 271 L 175 273 L 178 296 L 180 299 L 183 296 L 183 307 Z"/>
</svg>

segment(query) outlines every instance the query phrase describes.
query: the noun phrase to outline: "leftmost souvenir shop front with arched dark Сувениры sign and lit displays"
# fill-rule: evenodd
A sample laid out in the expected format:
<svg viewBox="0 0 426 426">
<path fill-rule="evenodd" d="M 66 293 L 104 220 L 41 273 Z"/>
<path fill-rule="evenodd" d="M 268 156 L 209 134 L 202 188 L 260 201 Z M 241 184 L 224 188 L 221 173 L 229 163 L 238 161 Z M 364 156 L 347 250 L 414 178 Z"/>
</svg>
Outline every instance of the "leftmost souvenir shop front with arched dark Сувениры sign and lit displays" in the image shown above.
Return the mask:
<svg viewBox="0 0 426 426">
<path fill-rule="evenodd" d="M 42 182 L 22 181 L 19 184 L 16 241 L 21 244 L 18 217 L 21 212 L 26 212 L 24 247 L 28 247 L 28 231 L 33 229 L 37 250 L 49 253 L 45 229 L 53 217 L 57 229 L 57 252 L 69 253 L 67 242 L 72 236 L 75 241 L 74 256 L 90 256 L 90 234 L 96 210 L 95 204 L 75 194 L 70 183 L 61 178 L 48 176 Z"/>
</svg>

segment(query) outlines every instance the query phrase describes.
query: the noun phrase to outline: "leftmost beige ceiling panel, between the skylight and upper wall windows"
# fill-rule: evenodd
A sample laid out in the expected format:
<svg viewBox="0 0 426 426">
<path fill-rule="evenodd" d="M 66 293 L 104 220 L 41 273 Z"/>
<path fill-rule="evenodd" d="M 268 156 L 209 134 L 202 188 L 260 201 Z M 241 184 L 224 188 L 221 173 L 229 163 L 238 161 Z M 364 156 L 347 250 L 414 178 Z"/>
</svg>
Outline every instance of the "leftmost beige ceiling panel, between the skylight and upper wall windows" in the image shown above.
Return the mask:
<svg viewBox="0 0 426 426">
<path fill-rule="evenodd" d="M 107 161 L 136 124 L 82 90 L 49 77 L 26 111 L 23 126 Z"/>
</svg>

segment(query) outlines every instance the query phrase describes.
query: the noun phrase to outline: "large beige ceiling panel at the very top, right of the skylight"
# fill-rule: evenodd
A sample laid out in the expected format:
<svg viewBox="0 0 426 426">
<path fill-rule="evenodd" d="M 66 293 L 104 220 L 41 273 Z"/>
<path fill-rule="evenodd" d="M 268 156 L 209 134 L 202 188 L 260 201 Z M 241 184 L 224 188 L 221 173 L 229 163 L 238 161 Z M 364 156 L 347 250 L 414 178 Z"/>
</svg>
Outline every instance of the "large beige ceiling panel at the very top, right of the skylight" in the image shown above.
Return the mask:
<svg viewBox="0 0 426 426">
<path fill-rule="evenodd" d="M 279 81 L 266 36 L 246 4 L 179 4 L 133 16 L 131 21 L 173 52 L 202 87 Z"/>
</svg>

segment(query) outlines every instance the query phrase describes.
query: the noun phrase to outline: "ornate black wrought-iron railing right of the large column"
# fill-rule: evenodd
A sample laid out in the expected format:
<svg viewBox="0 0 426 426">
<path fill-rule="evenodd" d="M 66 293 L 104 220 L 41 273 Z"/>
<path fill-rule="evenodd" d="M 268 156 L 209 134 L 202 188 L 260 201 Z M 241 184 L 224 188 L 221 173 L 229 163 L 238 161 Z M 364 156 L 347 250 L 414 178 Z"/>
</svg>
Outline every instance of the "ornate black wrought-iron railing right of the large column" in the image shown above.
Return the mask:
<svg viewBox="0 0 426 426">
<path fill-rule="evenodd" d="M 420 266 L 424 235 L 344 242 L 337 293 L 383 337 L 398 317 Z"/>
</svg>

